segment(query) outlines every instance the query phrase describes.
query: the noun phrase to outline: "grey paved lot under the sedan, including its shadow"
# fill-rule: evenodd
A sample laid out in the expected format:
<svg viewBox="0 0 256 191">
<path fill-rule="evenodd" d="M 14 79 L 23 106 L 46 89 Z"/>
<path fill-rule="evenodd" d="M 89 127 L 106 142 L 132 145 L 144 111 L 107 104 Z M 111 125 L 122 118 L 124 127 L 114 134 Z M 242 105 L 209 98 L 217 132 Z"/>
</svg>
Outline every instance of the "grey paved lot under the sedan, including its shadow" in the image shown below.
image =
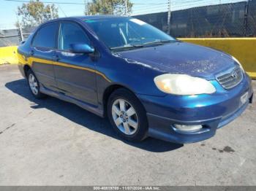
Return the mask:
<svg viewBox="0 0 256 191">
<path fill-rule="evenodd" d="M 0 185 L 45 184 L 256 185 L 256 104 L 207 141 L 131 144 L 78 106 L 35 100 L 17 66 L 0 66 Z"/>
</svg>

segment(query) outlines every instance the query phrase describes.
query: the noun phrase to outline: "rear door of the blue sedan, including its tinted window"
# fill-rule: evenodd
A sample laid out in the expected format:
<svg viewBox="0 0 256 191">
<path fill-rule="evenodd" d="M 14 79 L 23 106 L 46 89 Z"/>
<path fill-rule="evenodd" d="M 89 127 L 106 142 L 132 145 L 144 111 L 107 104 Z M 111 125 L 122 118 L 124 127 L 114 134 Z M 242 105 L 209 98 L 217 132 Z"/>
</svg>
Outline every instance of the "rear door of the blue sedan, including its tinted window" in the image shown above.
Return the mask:
<svg viewBox="0 0 256 191">
<path fill-rule="evenodd" d="M 53 52 L 57 46 L 59 23 L 48 23 L 39 28 L 31 42 L 29 62 L 39 82 L 50 90 L 56 90 L 53 71 Z"/>
</svg>

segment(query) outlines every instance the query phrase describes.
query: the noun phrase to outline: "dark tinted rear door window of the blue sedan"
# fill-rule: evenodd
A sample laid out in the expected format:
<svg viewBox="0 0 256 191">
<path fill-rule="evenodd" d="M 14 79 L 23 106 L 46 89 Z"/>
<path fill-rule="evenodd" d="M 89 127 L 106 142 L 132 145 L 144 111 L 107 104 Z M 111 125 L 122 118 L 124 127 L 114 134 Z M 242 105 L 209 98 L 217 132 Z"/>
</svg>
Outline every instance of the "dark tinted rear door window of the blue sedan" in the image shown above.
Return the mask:
<svg viewBox="0 0 256 191">
<path fill-rule="evenodd" d="M 58 28 L 58 23 L 50 23 L 42 28 L 39 28 L 36 36 L 34 36 L 32 45 L 34 47 L 55 48 Z"/>
</svg>

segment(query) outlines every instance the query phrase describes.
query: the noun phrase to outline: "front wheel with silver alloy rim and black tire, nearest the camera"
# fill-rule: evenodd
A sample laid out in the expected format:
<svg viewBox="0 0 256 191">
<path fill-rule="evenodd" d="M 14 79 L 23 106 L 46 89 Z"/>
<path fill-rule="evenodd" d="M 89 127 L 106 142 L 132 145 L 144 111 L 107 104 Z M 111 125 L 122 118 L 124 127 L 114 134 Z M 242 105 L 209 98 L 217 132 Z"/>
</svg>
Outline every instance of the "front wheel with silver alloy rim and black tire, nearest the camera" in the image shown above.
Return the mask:
<svg viewBox="0 0 256 191">
<path fill-rule="evenodd" d="M 120 88 L 108 99 L 108 119 L 119 136 L 128 141 L 142 141 L 148 133 L 146 111 L 129 90 Z"/>
</svg>

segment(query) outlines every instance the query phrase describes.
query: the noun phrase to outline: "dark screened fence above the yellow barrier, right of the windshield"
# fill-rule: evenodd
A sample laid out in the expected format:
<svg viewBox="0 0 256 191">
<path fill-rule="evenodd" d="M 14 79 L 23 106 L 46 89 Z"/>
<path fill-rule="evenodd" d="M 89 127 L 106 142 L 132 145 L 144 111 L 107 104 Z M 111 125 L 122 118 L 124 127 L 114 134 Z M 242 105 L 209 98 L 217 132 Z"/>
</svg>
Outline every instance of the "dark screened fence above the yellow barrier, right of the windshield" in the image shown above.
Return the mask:
<svg viewBox="0 0 256 191">
<path fill-rule="evenodd" d="M 168 12 L 135 17 L 168 31 Z M 175 37 L 256 36 L 256 0 L 171 12 L 170 34 Z"/>
</svg>

